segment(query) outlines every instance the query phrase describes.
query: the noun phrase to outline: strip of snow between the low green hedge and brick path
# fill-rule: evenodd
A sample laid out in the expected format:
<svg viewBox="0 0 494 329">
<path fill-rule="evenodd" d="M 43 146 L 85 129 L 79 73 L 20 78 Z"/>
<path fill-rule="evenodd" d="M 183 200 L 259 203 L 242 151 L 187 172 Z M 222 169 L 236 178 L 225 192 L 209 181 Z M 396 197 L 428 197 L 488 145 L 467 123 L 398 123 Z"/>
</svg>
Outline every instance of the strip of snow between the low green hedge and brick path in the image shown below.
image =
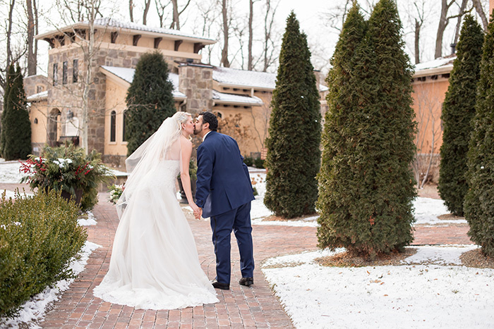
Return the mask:
<svg viewBox="0 0 494 329">
<path fill-rule="evenodd" d="M 80 259 L 73 259 L 69 268 L 72 269 L 74 275 L 82 272 L 88 263 L 88 259 L 93 250 L 101 246 L 86 242 L 83 249 L 80 251 Z M 20 309 L 20 313 L 16 318 L 6 319 L 0 318 L 1 328 L 41 328 L 35 323 L 44 318 L 47 306 L 59 300 L 62 292 L 68 289 L 74 279 L 60 280 L 54 284 L 54 287 L 47 287 L 43 292 L 33 296 L 28 302 L 25 302 Z"/>
</svg>

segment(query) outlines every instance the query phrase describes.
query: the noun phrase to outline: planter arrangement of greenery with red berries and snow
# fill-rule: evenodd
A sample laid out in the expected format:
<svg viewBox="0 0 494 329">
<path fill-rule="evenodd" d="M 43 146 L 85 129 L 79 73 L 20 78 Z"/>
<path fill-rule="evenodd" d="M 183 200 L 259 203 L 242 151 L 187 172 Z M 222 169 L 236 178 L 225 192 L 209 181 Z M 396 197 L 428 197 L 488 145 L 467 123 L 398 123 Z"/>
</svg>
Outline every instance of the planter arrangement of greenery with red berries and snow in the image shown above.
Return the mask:
<svg viewBox="0 0 494 329">
<path fill-rule="evenodd" d="M 20 170 L 30 175 L 21 182 L 28 182 L 31 189 L 64 191 L 73 196 L 76 190 L 82 190 L 80 208 L 83 211 L 97 204 L 100 182 L 112 179 L 109 168 L 101 161 L 101 154 L 95 150 L 85 155 L 84 149 L 73 145 L 44 147 L 41 157 L 30 155 L 29 158 Z"/>
</svg>

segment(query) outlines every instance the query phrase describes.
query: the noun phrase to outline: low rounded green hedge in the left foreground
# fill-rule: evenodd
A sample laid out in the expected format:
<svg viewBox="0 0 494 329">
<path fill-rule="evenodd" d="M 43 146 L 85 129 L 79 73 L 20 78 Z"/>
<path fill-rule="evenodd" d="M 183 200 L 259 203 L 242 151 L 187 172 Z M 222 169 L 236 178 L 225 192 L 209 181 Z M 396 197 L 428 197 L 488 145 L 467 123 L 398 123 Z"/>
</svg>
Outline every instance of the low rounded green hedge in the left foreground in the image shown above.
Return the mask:
<svg viewBox="0 0 494 329">
<path fill-rule="evenodd" d="M 0 203 L 0 316 L 11 316 L 31 296 L 70 278 L 68 261 L 88 235 L 78 206 L 60 194 L 16 195 Z"/>
</svg>

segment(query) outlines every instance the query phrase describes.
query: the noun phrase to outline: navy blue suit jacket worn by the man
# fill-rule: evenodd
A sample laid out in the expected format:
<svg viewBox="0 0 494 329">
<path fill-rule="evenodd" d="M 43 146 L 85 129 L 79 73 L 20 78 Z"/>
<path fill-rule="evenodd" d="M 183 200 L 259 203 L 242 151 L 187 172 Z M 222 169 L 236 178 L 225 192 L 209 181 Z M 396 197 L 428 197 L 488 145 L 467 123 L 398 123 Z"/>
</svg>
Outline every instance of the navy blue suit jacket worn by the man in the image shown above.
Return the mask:
<svg viewBox="0 0 494 329">
<path fill-rule="evenodd" d="M 235 139 L 212 131 L 197 151 L 195 203 L 203 217 L 225 213 L 254 199 L 251 178 Z"/>
</svg>

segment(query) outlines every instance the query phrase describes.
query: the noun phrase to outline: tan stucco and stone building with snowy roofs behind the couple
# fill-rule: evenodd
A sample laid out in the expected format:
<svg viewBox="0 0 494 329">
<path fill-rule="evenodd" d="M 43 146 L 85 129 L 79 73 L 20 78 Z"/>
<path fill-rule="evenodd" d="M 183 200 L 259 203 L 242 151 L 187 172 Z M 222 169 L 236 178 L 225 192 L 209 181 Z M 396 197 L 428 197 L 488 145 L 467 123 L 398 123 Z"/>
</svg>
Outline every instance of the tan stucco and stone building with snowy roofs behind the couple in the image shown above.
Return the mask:
<svg viewBox="0 0 494 329">
<path fill-rule="evenodd" d="M 87 99 L 88 148 L 101 152 L 105 161 L 117 164 L 124 159 L 126 92 L 140 56 L 158 50 L 169 63 L 177 110 L 193 114 L 209 110 L 223 119 L 240 120 L 236 125 L 245 132 L 239 140 L 243 154 L 263 154 L 276 82 L 274 73 L 203 64 L 200 49 L 215 43 L 212 39 L 107 18 L 95 21 L 95 52 L 92 61 L 88 61 L 89 28 L 87 22 L 81 22 L 36 36 L 49 42 L 51 49 L 49 76 L 25 78 L 35 153 L 44 144 L 78 141 L 82 102 Z M 89 62 L 92 81 L 84 97 Z M 318 72 L 315 74 L 318 77 Z M 320 85 L 321 92 L 325 89 Z"/>
</svg>

